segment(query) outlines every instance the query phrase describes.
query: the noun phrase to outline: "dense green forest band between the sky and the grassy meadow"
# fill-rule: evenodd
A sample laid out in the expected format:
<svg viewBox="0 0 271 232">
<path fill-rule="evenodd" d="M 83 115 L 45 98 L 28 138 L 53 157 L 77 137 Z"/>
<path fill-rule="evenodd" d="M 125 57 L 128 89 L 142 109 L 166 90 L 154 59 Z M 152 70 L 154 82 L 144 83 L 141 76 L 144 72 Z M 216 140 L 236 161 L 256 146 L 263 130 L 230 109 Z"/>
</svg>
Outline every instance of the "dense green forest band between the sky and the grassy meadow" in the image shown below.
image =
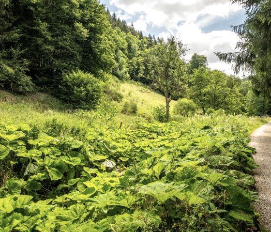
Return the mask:
<svg viewBox="0 0 271 232">
<path fill-rule="evenodd" d="M 185 62 L 187 49 L 174 37 L 143 36 L 97 0 L 0 2 L 2 90 L 47 92 L 68 107 L 94 109 L 103 93 L 110 92 L 113 75 L 162 93 L 166 118 L 170 101 L 180 98 L 194 101 L 203 114 L 208 109 L 271 112 L 269 97 L 251 89 L 251 78 L 211 70 L 207 58 L 196 53 Z M 255 86 L 256 78 L 252 80 Z"/>
</svg>

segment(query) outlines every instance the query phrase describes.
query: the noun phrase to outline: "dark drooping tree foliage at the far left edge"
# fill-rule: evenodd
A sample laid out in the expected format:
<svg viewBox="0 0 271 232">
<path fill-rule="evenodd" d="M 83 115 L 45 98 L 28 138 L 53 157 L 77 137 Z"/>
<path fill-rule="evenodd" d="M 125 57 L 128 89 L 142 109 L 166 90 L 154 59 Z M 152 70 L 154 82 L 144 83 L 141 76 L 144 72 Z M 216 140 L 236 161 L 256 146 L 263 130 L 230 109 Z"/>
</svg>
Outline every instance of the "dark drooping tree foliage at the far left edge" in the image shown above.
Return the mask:
<svg viewBox="0 0 271 232">
<path fill-rule="evenodd" d="M 11 1 L 0 1 L 0 89 L 23 94 L 32 92 L 34 85 L 27 75 L 29 62 L 21 57 L 22 49 L 13 47 L 21 36 L 19 30 L 12 29 L 13 9 Z"/>
</svg>

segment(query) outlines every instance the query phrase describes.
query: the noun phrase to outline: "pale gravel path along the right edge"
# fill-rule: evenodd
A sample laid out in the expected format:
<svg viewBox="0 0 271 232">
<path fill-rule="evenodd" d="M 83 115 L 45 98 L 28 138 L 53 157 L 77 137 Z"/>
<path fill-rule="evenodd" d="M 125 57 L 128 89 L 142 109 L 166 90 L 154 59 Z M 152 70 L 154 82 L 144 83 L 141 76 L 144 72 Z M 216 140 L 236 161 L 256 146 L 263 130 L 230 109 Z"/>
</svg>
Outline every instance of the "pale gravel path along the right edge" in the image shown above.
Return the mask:
<svg viewBox="0 0 271 232">
<path fill-rule="evenodd" d="M 260 197 L 255 208 L 260 212 L 261 225 L 271 231 L 271 122 L 252 133 L 249 145 L 256 148 L 254 160 L 260 165 L 254 170 L 256 189 Z"/>
</svg>

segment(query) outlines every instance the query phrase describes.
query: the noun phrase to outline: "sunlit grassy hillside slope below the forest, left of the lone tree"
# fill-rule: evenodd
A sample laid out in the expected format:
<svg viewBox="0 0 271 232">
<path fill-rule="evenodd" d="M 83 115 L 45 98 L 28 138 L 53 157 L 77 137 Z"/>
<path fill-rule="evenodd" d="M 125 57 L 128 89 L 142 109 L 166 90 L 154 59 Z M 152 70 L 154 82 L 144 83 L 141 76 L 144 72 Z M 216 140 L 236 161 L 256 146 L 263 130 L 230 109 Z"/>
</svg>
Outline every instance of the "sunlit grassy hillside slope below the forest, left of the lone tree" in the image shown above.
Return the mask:
<svg viewBox="0 0 271 232">
<path fill-rule="evenodd" d="M 117 83 L 113 80 L 112 88 L 123 95 L 123 100 L 114 102 L 118 114 L 114 126 L 122 123 L 124 128 L 135 128 L 140 122 L 152 121 L 152 109 L 158 105 L 165 105 L 165 98 L 159 93 L 141 93 L 142 85 L 137 83 Z M 124 103 L 135 102 L 138 111 L 135 114 L 122 114 Z M 143 104 L 141 104 L 143 103 Z M 176 104 L 171 102 L 171 109 Z M 99 128 L 104 125 L 101 117 L 94 112 L 73 111 L 65 108 L 65 104 L 47 93 L 32 93 L 28 95 L 15 95 L 0 91 L 0 121 L 7 123 L 28 123 L 42 125 L 52 120 L 64 122 L 64 124 L 84 128 L 92 125 Z"/>
</svg>

